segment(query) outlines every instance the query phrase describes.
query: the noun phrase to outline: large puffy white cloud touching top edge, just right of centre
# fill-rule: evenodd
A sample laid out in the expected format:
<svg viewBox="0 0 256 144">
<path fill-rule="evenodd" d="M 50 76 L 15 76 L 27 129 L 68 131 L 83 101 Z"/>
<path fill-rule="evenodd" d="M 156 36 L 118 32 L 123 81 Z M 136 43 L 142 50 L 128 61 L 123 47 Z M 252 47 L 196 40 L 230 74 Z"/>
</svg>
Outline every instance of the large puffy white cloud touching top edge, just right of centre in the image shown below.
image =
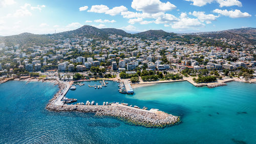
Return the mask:
<svg viewBox="0 0 256 144">
<path fill-rule="evenodd" d="M 158 13 L 173 10 L 176 6 L 170 2 L 163 3 L 160 0 L 133 0 L 132 8 L 144 13 Z"/>
</svg>

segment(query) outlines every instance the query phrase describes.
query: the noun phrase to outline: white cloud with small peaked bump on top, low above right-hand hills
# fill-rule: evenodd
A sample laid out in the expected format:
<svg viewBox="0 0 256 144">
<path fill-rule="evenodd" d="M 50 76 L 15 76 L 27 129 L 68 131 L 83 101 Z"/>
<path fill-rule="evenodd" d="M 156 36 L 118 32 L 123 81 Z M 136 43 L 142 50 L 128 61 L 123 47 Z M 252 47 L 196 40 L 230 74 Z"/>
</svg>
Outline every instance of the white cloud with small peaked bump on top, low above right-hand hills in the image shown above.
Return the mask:
<svg viewBox="0 0 256 144">
<path fill-rule="evenodd" d="M 181 13 L 180 19 L 171 25 L 173 29 L 189 29 L 205 26 L 197 18 L 189 18 L 186 13 Z"/>
</svg>

